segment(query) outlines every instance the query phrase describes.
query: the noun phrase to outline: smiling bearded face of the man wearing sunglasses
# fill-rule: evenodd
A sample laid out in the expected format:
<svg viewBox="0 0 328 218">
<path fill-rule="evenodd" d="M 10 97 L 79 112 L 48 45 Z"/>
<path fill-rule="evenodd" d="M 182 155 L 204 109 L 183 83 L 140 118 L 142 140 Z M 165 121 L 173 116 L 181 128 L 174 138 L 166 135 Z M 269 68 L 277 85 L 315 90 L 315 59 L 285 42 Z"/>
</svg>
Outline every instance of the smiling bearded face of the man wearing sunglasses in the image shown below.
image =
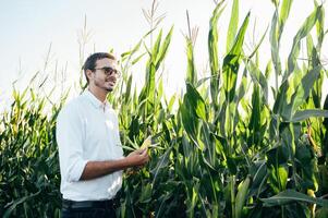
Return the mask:
<svg viewBox="0 0 328 218">
<path fill-rule="evenodd" d="M 105 89 L 106 92 L 112 92 L 118 74 L 118 63 L 112 59 L 99 59 L 96 62 L 95 70 L 90 73 L 89 84 Z"/>
</svg>

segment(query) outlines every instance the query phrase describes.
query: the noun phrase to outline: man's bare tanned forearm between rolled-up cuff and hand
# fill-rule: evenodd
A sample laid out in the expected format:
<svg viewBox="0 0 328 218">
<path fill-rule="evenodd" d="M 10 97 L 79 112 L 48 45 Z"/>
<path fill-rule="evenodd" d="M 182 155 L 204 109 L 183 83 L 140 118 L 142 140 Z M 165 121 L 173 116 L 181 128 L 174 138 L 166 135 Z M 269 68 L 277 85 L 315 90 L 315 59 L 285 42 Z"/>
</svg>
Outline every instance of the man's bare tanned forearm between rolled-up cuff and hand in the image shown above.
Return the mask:
<svg viewBox="0 0 328 218">
<path fill-rule="evenodd" d="M 131 167 L 127 158 L 105 161 L 88 161 L 82 172 L 80 180 L 92 180 L 118 170 Z"/>
</svg>

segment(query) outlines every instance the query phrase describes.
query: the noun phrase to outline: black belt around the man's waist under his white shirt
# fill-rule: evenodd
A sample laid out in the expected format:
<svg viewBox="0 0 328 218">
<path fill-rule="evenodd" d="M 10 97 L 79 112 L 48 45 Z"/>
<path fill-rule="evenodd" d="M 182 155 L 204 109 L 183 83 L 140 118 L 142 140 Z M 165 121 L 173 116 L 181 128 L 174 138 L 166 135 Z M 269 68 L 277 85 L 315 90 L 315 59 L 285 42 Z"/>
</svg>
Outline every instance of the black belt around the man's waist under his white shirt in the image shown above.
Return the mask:
<svg viewBox="0 0 328 218">
<path fill-rule="evenodd" d="M 81 208 L 113 208 L 114 201 L 83 201 L 75 202 L 71 199 L 62 199 L 63 209 L 81 209 Z"/>
</svg>

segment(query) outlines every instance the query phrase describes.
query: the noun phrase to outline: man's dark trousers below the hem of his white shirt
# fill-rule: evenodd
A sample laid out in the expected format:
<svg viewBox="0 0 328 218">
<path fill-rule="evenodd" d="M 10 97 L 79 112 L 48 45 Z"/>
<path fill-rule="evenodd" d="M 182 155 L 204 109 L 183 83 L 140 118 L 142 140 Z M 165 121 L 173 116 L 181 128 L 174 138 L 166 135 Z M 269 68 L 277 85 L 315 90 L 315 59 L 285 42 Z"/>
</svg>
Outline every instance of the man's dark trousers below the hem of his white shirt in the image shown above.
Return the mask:
<svg viewBox="0 0 328 218">
<path fill-rule="evenodd" d="M 116 218 L 113 201 L 74 202 L 63 199 L 62 218 Z"/>
</svg>

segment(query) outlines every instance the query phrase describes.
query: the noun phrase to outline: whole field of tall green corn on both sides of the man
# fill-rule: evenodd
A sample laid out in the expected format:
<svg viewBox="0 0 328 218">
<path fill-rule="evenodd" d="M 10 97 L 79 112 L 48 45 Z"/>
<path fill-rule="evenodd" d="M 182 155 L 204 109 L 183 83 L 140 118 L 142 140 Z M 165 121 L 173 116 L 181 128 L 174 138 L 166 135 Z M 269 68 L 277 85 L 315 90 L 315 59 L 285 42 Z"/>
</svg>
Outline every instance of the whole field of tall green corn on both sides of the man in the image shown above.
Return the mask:
<svg viewBox="0 0 328 218">
<path fill-rule="evenodd" d="M 206 77 L 196 71 L 194 37 L 185 36 L 182 95 L 166 96 L 158 73 L 173 27 L 146 34 L 121 55 L 123 77 L 109 100 L 119 111 L 123 148 L 127 154 L 149 135 L 158 144 L 145 168 L 125 171 L 120 217 L 328 217 L 325 7 L 315 1 L 284 61 L 280 41 L 296 2 L 272 3 L 267 32 L 246 53 L 252 14 L 239 24 L 239 0 L 233 0 L 222 59 L 217 25 L 226 2 L 217 3 L 209 14 Z M 150 35 L 155 40 L 147 47 Z M 266 35 L 271 58 L 260 69 L 258 48 Z M 300 59 L 301 44 L 306 59 Z M 131 68 L 142 59 L 145 83 L 137 90 Z M 60 217 L 56 118 L 68 94 L 53 104 L 29 87 L 13 90 L 11 108 L 0 117 L 1 216 Z"/>
</svg>

